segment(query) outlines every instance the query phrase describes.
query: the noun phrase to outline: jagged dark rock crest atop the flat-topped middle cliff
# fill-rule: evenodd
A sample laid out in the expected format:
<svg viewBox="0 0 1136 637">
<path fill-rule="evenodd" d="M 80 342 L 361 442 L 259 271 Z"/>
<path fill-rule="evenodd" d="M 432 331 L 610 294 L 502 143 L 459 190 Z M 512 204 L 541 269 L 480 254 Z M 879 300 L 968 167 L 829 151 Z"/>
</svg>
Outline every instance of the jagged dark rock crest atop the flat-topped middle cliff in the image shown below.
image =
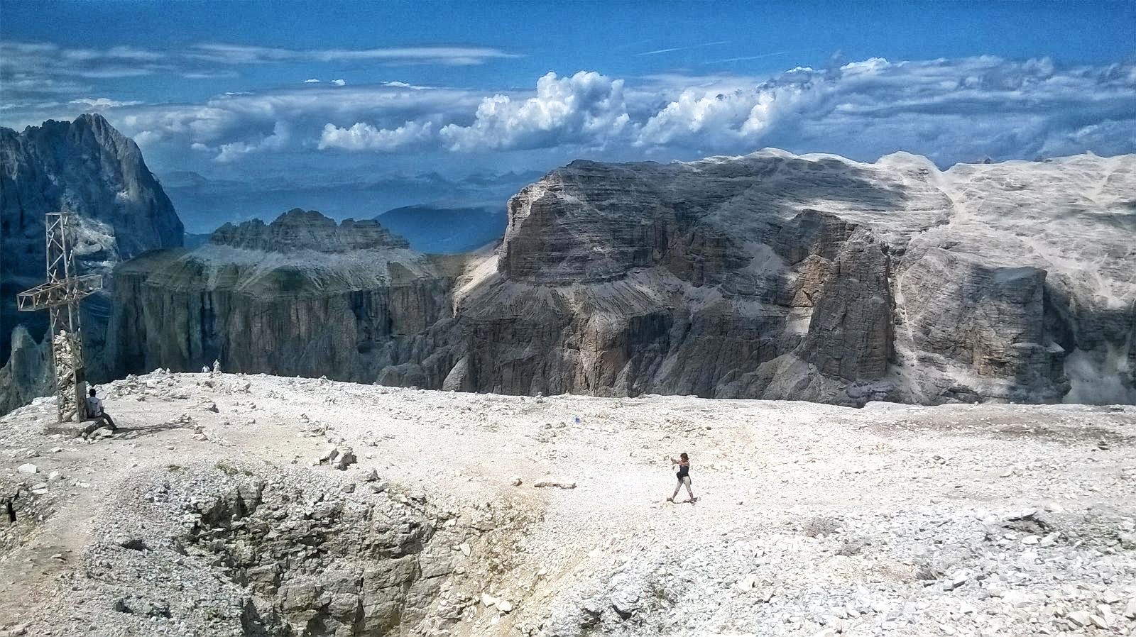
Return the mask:
<svg viewBox="0 0 1136 637">
<path fill-rule="evenodd" d="M 260 219 L 244 221 L 240 226 L 225 224 L 212 233 L 209 241 L 266 252 L 350 252 L 410 246 L 407 240 L 392 234 L 374 219 L 344 219 L 336 225 L 334 219 L 317 210 L 300 208 L 289 210 L 267 225 Z"/>
</svg>

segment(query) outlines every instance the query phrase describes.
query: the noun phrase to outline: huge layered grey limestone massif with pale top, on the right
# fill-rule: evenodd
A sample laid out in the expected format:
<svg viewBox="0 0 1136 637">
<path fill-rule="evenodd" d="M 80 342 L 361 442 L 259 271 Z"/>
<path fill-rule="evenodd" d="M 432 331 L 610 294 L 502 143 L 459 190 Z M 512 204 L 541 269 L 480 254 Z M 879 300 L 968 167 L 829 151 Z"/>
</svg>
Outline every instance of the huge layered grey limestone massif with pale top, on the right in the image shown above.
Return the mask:
<svg viewBox="0 0 1136 637">
<path fill-rule="evenodd" d="M 506 393 L 1134 402 L 1131 192 L 1131 156 L 947 171 L 904 153 L 577 161 L 512 199 L 495 271 L 456 293 L 435 360 L 458 362 L 426 377 Z"/>
</svg>

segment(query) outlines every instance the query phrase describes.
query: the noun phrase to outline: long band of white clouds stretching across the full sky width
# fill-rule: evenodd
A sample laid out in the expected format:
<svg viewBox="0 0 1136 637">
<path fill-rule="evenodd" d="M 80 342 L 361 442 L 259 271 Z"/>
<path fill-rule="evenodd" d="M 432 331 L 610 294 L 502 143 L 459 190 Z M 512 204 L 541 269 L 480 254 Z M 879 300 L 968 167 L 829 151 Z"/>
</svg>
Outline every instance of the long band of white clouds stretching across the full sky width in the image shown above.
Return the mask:
<svg viewBox="0 0 1136 637">
<path fill-rule="evenodd" d="M 28 48 L 40 49 L 55 50 Z M 35 82 L 5 77 L 5 89 Z M 195 104 L 130 104 L 82 97 L 98 93 L 65 79 L 47 82 L 42 93 L 6 93 L 0 108 L 8 125 L 103 108 L 148 152 L 195 156 L 186 152 L 192 148 L 222 162 L 317 150 L 446 150 L 499 153 L 502 161 L 510 151 L 541 150 L 527 157 L 567 161 L 693 159 L 775 145 L 864 160 L 907 150 L 941 165 L 986 156 L 1136 152 L 1131 61 L 1062 67 L 1047 59 L 874 58 L 799 67 L 772 78 L 655 75 L 629 78 L 626 87 L 594 72 L 550 73 L 535 90 L 496 93 L 324 79 Z M 61 98 L 65 87 L 70 94 Z M 47 117 L 32 120 L 28 114 Z M 527 161 L 519 152 L 508 157 L 512 166 Z"/>
</svg>

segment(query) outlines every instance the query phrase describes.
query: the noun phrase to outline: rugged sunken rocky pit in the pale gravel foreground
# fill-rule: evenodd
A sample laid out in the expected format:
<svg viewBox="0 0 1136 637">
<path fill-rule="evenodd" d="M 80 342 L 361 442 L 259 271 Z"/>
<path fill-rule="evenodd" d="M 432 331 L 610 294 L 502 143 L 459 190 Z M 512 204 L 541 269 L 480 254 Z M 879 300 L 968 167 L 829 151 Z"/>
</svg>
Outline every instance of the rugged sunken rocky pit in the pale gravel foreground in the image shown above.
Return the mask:
<svg viewBox="0 0 1136 637">
<path fill-rule="evenodd" d="M 446 625 L 435 617 L 437 596 L 453 573 L 451 545 L 469 533 L 451 513 L 390 496 L 385 486 L 348 496 L 299 473 L 259 471 L 226 462 L 178 468 L 147 496 L 157 503 L 148 514 L 158 517 L 97 546 L 90 577 L 108 592 L 130 590 L 149 560 L 176 575 L 151 584 L 151 594 L 198 582 L 167 597 L 164 617 L 215 634 L 352 637 Z M 153 600 L 119 606 L 139 615 Z"/>
</svg>

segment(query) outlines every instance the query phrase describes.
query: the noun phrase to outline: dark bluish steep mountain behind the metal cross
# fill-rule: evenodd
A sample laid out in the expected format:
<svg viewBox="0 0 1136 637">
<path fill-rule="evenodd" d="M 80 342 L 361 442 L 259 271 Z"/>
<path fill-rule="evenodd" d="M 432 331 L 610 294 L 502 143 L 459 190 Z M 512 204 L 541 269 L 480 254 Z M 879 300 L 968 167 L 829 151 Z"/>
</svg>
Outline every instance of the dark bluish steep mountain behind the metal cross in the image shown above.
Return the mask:
<svg viewBox="0 0 1136 637">
<path fill-rule="evenodd" d="M 16 312 L 15 296 L 43 282 L 43 215 L 55 211 L 76 213 L 81 273 L 107 275 L 118 261 L 182 244 L 182 221 L 142 152 L 101 116 L 48 120 L 22 133 L 0 127 L 0 362 L 16 326 L 35 340 L 47 330 L 47 313 Z M 109 291 L 83 304 L 95 377 L 109 311 Z"/>
</svg>

